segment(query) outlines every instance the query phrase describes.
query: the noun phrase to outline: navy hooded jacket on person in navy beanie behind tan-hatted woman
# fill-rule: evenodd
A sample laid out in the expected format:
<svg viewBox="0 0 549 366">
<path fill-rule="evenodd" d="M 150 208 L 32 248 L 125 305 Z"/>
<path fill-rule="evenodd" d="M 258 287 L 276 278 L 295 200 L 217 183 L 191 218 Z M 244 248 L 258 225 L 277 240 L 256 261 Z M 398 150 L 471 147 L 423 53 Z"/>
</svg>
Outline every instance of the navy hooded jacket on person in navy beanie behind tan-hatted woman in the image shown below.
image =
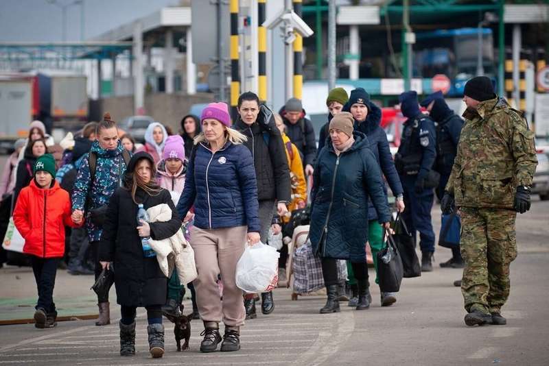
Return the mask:
<svg viewBox="0 0 549 366">
<path fill-rule="evenodd" d="M 349 107 L 350 106 L 348 106 L 348 104 L 345 104 L 342 111 L 349 112 Z M 397 173 L 397 169 L 395 168 L 393 156 L 390 154 L 387 134 L 381 127 L 381 121 L 381 108 L 376 106 L 375 103 L 370 102 L 368 105 L 368 115 L 366 116 L 366 119 L 362 122 L 355 120 L 354 128 L 355 131 L 360 131 L 368 137 L 368 146 L 372 150 L 373 156 L 375 157 L 379 168 L 381 168 L 381 171 L 385 176 L 393 195 L 402 195 L 404 190 L 402 189 L 400 178 Z M 387 196 L 385 185 L 383 186 L 383 191 Z M 369 220 L 375 219 L 377 219 L 377 213 L 371 200 L 369 200 Z"/>
</svg>

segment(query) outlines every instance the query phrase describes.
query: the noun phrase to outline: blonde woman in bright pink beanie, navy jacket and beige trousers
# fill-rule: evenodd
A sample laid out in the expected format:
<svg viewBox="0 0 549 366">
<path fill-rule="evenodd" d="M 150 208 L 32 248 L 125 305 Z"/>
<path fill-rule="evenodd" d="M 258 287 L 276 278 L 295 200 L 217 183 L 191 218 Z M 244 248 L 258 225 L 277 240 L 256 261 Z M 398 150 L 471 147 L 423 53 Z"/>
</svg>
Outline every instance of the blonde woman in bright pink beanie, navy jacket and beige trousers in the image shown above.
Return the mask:
<svg viewBox="0 0 549 366">
<path fill-rule="evenodd" d="M 194 140 L 177 211 L 183 219 L 194 205 L 191 245 L 198 278 L 193 284 L 205 328 L 200 351 L 217 350 L 222 340 L 220 321 L 225 324 L 221 351 L 237 351 L 246 312 L 242 290 L 235 283 L 236 265 L 246 241 L 248 245 L 259 242 L 255 168 L 250 150 L 242 145 L 246 136 L 230 127 L 226 103 L 210 103 L 200 121 L 202 133 Z"/>
</svg>

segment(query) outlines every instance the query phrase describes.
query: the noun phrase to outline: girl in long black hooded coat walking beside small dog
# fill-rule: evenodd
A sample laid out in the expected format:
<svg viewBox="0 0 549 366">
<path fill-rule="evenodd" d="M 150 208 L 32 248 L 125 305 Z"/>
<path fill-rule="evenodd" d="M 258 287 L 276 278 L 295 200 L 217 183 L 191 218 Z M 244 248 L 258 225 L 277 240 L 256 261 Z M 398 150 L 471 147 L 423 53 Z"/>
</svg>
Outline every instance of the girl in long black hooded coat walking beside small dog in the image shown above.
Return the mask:
<svg viewBox="0 0 549 366">
<path fill-rule="evenodd" d="M 154 160 L 145 152 L 132 156 L 124 177 L 108 203 L 100 243 L 100 263 L 114 263 L 117 303 L 121 305 L 120 355 L 135 354 L 135 314 L 138 306 L 147 309 L 150 353 L 164 353 L 164 326 L 161 306 L 166 302 L 167 278 L 156 256 L 145 258 L 141 237 L 170 238 L 181 227 L 170 193 L 154 182 Z M 172 208 L 166 222 L 137 224 L 138 204 L 147 210 L 159 204 Z"/>
</svg>

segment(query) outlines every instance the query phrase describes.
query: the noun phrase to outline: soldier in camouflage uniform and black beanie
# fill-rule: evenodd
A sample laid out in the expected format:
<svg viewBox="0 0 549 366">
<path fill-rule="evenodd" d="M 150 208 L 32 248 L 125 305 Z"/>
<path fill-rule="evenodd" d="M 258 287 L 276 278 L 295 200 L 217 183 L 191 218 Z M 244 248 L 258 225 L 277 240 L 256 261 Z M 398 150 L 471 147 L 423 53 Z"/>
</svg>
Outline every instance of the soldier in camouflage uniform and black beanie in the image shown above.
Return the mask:
<svg viewBox="0 0 549 366">
<path fill-rule="evenodd" d="M 467 110 L 441 206 L 461 215 L 465 324 L 506 324 L 509 265 L 517 256 L 516 212 L 530 209 L 537 165 L 534 134 L 520 112 L 493 93 L 488 77 L 465 85 Z"/>
</svg>

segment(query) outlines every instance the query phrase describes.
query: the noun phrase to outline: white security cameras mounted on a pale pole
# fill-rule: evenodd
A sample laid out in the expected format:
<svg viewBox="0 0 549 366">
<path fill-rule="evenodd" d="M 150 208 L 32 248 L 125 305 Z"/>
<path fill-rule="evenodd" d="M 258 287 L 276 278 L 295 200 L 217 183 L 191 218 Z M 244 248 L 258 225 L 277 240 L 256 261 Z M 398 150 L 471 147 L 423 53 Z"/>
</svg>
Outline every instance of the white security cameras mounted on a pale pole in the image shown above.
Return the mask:
<svg viewBox="0 0 549 366">
<path fill-rule="evenodd" d="M 267 19 L 263 26 L 268 29 L 273 29 L 281 25 L 284 34 L 284 44 L 285 44 L 285 73 L 286 73 L 286 82 L 285 82 L 285 99 L 290 99 L 293 97 L 293 51 L 292 43 L 296 40 L 296 35 L 294 32 L 297 32 L 302 37 L 309 37 L 314 34 L 313 30 L 301 19 L 292 9 L 292 0 L 285 0 L 285 9 L 277 14 Z"/>
</svg>

